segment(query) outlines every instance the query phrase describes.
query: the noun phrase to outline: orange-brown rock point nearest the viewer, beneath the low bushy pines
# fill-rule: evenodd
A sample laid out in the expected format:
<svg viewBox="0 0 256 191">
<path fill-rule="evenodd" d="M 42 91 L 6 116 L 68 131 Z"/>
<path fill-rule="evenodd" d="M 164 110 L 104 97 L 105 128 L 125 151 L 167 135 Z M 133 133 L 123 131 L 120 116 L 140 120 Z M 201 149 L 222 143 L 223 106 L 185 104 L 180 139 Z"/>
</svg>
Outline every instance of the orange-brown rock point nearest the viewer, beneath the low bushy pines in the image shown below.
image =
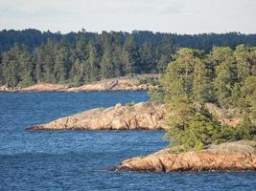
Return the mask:
<svg viewBox="0 0 256 191">
<path fill-rule="evenodd" d="M 124 160 L 114 170 L 127 171 L 244 171 L 256 170 L 256 142 L 236 141 L 213 145 L 201 152 L 171 154 L 169 149 L 147 157 Z"/>
</svg>

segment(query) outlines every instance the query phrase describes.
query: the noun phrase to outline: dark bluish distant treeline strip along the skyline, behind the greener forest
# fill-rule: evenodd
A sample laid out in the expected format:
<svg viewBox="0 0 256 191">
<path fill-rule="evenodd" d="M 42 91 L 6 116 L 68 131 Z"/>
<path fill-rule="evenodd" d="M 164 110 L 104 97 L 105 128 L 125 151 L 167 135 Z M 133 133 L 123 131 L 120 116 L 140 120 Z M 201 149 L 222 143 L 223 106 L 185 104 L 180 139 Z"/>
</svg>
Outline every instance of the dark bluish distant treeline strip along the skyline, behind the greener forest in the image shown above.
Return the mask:
<svg viewBox="0 0 256 191">
<path fill-rule="evenodd" d="M 128 32 L 86 32 L 81 29 L 81 32 L 69 32 L 60 34 L 59 32 L 39 32 L 34 29 L 14 31 L 3 30 L 0 31 L 0 52 L 10 50 L 14 43 L 24 44 L 33 51 L 36 47 L 40 46 L 47 39 L 52 38 L 56 40 L 65 39 L 70 44 L 74 45 L 77 39 L 89 40 L 92 38 L 105 38 L 112 37 L 115 42 L 122 41 L 124 37 L 132 34 L 137 42 L 143 44 L 144 42 L 158 41 L 160 51 L 168 55 L 175 47 L 189 47 L 194 49 L 203 49 L 209 51 L 212 46 L 228 46 L 235 48 L 237 45 L 246 44 L 248 46 L 256 46 L 255 34 L 242 34 L 239 32 L 229 33 L 202 33 L 202 34 L 176 34 L 164 32 L 149 32 L 149 31 L 134 31 Z M 153 44 L 154 45 L 154 44 Z M 171 45 L 171 46 L 170 46 Z M 170 60 L 169 60 L 170 61 Z"/>
</svg>

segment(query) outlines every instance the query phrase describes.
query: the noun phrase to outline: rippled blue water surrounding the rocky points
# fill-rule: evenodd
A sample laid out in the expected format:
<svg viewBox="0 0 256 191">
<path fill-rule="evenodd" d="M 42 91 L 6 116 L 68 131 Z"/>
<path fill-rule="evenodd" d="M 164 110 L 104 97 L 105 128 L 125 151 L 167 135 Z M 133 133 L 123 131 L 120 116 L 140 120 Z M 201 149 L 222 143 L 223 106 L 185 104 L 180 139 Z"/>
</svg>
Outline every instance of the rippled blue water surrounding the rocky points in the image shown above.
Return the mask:
<svg viewBox="0 0 256 191">
<path fill-rule="evenodd" d="M 255 172 L 135 173 L 108 168 L 168 143 L 161 131 L 26 132 L 145 92 L 0 93 L 0 190 L 256 190 Z"/>
</svg>

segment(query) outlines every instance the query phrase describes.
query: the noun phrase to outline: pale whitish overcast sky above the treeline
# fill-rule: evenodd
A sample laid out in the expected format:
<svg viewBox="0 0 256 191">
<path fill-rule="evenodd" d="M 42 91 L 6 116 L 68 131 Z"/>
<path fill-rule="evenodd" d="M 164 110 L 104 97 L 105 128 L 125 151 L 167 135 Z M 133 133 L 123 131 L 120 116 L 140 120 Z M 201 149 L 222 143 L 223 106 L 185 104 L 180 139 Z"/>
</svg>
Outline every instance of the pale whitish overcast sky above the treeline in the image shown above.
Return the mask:
<svg viewBox="0 0 256 191">
<path fill-rule="evenodd" d="M 0 0 L 0 30 L 256 33 L 256 0 Z"/>
</svg>

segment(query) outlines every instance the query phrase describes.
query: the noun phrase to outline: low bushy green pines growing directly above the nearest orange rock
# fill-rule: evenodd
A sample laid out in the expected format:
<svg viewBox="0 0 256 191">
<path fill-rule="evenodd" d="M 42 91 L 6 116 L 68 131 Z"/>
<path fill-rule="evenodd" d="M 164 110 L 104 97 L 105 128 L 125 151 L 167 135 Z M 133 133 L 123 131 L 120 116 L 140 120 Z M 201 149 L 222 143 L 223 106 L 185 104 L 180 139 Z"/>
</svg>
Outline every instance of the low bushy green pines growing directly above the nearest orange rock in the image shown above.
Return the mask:
<svg viewBox="0 0 256 191">
<path fill-rule="evenodd" d="M 182 145 L 182 151 L 194 149 L 199 151 L 204 145 L 240 139 L 256 140 L 256 126 L 248 118 L 237 127 L 221 125 L 214 121 L 212 117 L 197 113 L 187 120 L 185 126 L 181 128 L 173 119 L 166 138 L 171 139 L 172 147 Z"/>
</svg>

